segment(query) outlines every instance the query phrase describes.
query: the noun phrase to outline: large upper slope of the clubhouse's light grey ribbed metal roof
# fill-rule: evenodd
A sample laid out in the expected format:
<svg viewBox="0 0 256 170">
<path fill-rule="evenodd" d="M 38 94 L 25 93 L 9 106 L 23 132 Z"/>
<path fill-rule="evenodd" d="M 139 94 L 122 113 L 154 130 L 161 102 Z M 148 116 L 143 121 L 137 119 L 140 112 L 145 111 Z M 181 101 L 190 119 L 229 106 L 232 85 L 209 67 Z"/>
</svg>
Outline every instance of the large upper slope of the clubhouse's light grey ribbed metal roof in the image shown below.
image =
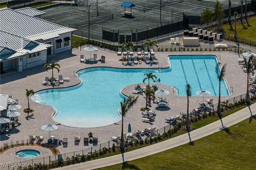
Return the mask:
<svg viewBox="0 0 256 170">
<path fill-rule="evenodd" d="M 0 23 L 0 30 L 19 35 L 21 37 L 32 37 L 42 33 L 66 28 L 56 23 L 22 14 L 10 8 L 0 10 Z M 69 28 L 67 32 L 70 32 L 70 29 L 72 28 Z M 72 31 L 75 30 L 76 29 L 72 29 Z M 51 39 L 51 37 L 45 37 L 45 39 Z"/>
</svg>

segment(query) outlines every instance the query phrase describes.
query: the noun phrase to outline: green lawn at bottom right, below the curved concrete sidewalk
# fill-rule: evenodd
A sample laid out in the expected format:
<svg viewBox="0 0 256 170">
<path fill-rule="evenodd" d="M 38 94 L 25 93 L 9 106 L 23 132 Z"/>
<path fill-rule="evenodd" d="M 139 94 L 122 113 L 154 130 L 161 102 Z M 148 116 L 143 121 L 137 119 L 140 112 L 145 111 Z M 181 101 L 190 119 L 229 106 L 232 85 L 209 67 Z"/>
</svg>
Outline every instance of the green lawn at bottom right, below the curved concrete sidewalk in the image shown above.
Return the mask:
<svg viewBox="0 0 256 170">
<path fill-rule="evenodd" d="M 100 169 L 255 169 L 255 126 L 253 116 L 190 144 Z"/>
</svg>

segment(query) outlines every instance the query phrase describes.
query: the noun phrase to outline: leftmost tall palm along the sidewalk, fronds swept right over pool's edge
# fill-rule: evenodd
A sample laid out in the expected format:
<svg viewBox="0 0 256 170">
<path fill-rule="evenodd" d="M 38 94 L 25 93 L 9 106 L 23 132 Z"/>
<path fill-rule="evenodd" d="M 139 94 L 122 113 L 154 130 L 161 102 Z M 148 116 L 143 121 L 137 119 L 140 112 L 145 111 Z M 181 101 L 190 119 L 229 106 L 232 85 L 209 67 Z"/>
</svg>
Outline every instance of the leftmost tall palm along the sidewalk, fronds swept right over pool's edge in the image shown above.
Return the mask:
<svg viewBox="0 0 256 170">
<path fill-rule="evenodd" d="M 120 143 L 120 149 L 121 152 L 124 153 L 124 117 L 128 110 L 137 102 L 138 97 L 134 98 L 135 96 L 129 96 L 127 99 L 124 98 L 124 101 L 122 101 L 121 104 L 121 109 L 122 109 L 122 133 L 121 133 L 121 143 Z"/>
</svg>

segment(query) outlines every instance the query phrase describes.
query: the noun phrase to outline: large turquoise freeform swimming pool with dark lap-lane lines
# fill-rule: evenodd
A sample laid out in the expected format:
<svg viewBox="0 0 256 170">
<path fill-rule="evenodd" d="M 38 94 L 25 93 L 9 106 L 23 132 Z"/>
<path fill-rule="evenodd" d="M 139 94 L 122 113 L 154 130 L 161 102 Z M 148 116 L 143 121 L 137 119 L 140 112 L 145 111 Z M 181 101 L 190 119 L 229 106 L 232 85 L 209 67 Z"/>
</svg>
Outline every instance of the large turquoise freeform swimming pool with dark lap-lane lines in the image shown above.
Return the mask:
<svg viewBox="0 0 256 170">
<path fill-rule="evenodd" d="M 73 127 L 102 127 L 120 120 L 118 108 L 123 96 L 120 89 L 130 84 L 142 83 L 144 74 L 153 72 L 162 84 L 175 86 L 179 96 L 186 96 L 185 86 L 190 84 L 192 96 L 196 91 L 208 90 L 218 95 L 214 56 L 170 56 L 171 68 L 167 69 L 120 69 L 88 68 L 79 72 L 82 83 L 75 87 L 50 89 L 37 92 L 41 103 L 55 107 L 54 119 Z M 150 80 L 150 82 L 152 82 Z M 221 95 L 228 95 L 224 82 Z"/>
</svg>

